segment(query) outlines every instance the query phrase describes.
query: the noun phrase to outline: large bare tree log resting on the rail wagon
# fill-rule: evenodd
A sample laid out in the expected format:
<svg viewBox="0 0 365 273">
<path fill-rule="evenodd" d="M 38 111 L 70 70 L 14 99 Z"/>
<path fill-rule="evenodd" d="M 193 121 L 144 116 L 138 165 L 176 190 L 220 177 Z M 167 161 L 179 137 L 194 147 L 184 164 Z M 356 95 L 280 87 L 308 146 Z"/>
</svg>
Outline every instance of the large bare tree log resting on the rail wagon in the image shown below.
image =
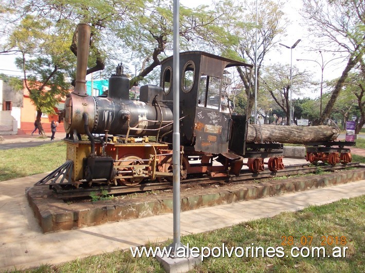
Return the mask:
<svg viewBox="0 0 365 273">
<path fill-rule="evenodd" d="M 263 142 L 305 144 L 333 141 L 339 133 L 337 128 L 327 125 L 301 127 L 249 124 L 246 142 L 260 143 L 262 138 Z"/>
</svg>

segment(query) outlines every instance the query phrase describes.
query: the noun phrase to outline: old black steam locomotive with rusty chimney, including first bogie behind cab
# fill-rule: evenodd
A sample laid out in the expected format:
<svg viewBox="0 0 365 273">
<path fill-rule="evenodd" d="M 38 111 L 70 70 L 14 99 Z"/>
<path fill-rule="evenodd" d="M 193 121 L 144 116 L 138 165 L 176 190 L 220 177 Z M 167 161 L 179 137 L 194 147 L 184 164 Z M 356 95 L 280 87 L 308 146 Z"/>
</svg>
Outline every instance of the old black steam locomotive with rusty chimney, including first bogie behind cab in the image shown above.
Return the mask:
<svg viewBox="0 0 365 273">
<path fill-rule="evenodd" d="M 130 99 L 130 81 L 121 65 L 109 78 L 107 95 L 90 96 L 85 91 L 89 31 L 79 25 L 76 86 L 63 110 L 67 161 L 39 184 L 58 179 L 77 187 L 171 181 L 173 57 L 161 62 L 160 86 L 142 86 L 139 101 Z M 181 179 L 239 175 L 244 157 L 253 172 L 264 169 L 263 158 L 269 158 L 272 171 L 284 167 L 282 144 L 246 143 L 246 115 L 230 113 L 224 91 L 232 85 L 228 69 L 236 66 L 253 67 L 202 51 L 180 53 Z"/>
</svg>

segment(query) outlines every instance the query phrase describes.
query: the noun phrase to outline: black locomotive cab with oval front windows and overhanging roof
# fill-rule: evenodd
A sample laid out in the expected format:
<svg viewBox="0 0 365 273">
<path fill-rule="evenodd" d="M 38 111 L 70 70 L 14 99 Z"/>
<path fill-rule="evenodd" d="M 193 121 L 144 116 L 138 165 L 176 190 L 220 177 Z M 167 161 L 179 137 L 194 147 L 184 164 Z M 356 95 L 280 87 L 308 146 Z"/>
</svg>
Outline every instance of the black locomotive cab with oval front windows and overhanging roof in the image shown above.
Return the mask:
<svg viewBox="0 0 365 273">
<path fill-rule="evenodd" d="M 212 154 L 228 152 L 232 125 L 226 97 L 232 90 L 227 69 L 252 65 L 203 51 L 180 53 L 180 136 L 182 145 Z M 163 101 L 173 101 L 173 56 L 161 62 Z"/>
</svg>

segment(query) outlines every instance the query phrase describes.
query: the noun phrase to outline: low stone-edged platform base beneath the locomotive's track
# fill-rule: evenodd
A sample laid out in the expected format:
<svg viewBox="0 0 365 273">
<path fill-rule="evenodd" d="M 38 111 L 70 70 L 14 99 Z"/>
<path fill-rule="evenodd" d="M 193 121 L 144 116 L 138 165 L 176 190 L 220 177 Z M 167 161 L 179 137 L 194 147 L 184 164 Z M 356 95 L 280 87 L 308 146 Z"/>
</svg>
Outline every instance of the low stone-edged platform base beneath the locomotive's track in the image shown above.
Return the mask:
<svg viewBox="0 0 365 273">
<path fill-rule="evenodd" d="M 181 211 L 253 200 L 283 193 L 304 191 L 365 179 L 365 168 L 329 174 L 266 180 L 259 183 L 195 186 L 181 189 Z M 34 186 L 26 196 L 44 233 L 78 229 L 129 219 L 172 213 L 172 191 L 118 196 L 97 202 L 64 202 L 53 196 L 48 186 Z"/>
</svg>

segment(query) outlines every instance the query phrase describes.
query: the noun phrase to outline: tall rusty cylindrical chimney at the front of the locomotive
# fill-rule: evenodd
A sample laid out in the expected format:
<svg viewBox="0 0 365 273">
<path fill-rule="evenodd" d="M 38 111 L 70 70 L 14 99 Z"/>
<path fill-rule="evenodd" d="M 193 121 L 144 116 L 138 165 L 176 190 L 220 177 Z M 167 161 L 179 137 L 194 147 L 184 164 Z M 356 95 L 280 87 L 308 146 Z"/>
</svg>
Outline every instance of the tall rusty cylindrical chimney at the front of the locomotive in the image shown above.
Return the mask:
<svg viewBox="0 0 365 273">
<path fill-rule="evenodd" d="M 86 93 L 86 70 L 89 55 L 91 27 L 86 24 L 78 25 L 77 34 L 77 70 L 76 84 L 72 93 L 79 96 L 87 96 Z"/>
</svg>

